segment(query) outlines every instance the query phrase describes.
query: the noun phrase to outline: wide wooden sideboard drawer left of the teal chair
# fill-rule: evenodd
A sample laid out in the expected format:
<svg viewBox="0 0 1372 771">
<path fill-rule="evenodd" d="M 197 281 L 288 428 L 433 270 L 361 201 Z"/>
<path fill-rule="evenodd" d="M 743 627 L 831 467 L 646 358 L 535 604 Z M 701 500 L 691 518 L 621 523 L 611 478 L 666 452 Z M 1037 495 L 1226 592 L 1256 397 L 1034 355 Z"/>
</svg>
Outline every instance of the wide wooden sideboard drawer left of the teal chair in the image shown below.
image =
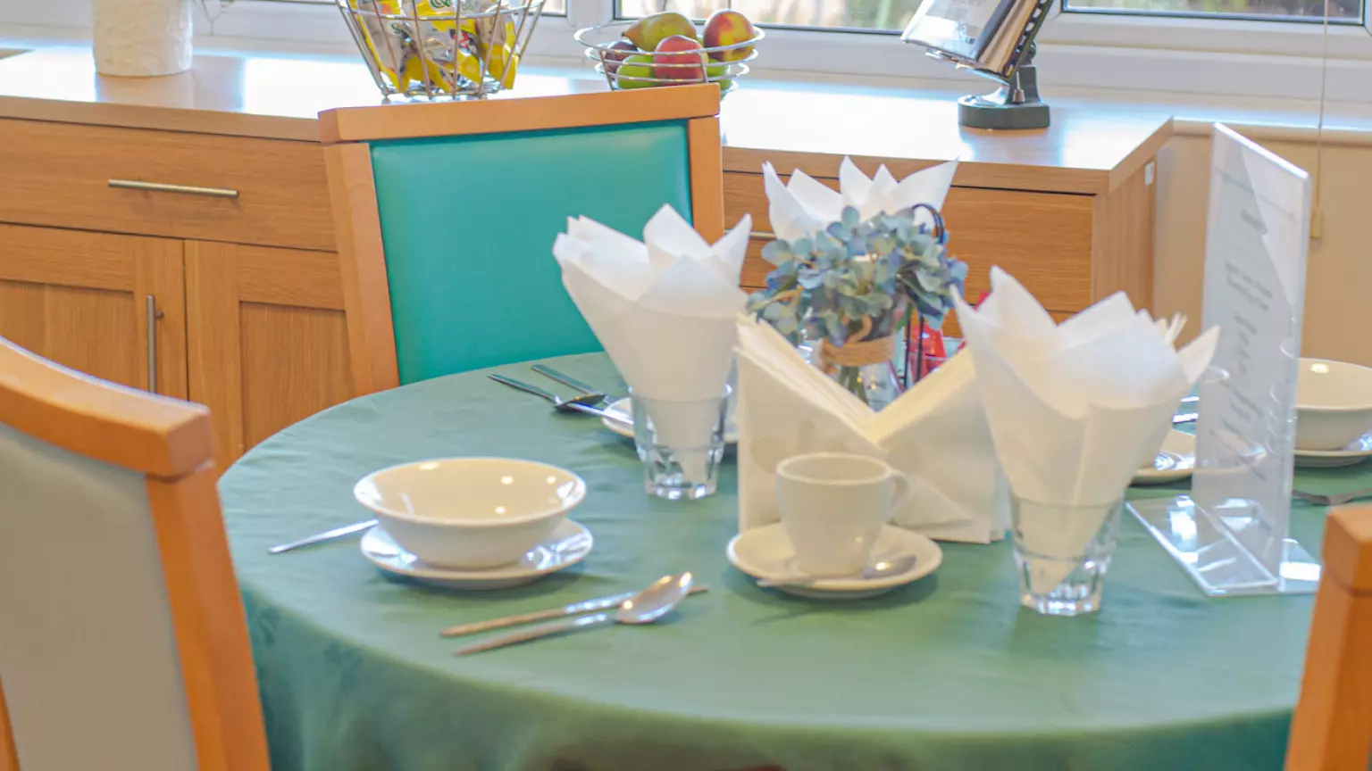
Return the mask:
<svg viewBox="0 0 1372 771">
<path fill-rule="evenodd" d="M 237 198 L 123 189 L 110 180 Z M 324 156 L 305 141 L 0 121 L 0 221 L 333 248 Z"/>
</svg>

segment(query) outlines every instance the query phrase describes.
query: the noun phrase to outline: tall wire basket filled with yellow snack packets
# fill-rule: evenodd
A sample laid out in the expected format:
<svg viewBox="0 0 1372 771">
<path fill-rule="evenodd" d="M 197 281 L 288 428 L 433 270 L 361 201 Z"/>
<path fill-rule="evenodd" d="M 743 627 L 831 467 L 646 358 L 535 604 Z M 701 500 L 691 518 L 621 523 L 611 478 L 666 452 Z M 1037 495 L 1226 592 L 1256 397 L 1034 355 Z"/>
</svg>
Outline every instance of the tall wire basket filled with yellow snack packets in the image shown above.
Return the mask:
<svg viewBox="0 0 1372 771">
<path fill-rule="evenodd" d="M 386 102 L 514 85 L 545 0 L 335 0 Z"/>
</svg>

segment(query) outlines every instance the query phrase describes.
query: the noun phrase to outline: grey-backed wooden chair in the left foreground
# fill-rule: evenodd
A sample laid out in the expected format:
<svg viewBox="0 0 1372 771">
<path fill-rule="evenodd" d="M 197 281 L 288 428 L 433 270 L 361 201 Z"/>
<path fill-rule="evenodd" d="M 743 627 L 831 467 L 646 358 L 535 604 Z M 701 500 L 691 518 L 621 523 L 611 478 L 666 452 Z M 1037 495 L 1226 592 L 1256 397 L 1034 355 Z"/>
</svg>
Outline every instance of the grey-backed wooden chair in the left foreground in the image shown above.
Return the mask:
<svg viewBox="0 0 1372 771">
<path fill-rule="evenodd" d="M 0 771 L 265 771 L 210 414 L 0 339 Z"/>
</svg>

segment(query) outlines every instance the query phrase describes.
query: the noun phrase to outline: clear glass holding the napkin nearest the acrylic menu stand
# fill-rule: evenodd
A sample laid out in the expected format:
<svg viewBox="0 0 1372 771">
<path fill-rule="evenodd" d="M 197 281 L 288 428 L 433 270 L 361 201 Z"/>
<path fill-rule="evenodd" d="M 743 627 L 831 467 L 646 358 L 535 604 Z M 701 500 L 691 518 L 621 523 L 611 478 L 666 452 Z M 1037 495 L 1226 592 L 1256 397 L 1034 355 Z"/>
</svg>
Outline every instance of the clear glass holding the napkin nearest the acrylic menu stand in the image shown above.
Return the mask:
<svg viewBox="0 0 1372 771">
<path fill-rule="evenodd" d="M 1072 506 L 1011 498 L 1019 602 L 1045 616 L 1100 609 L 1100 586 L 1120 541 L 1121 495 Z"/>
</svg>

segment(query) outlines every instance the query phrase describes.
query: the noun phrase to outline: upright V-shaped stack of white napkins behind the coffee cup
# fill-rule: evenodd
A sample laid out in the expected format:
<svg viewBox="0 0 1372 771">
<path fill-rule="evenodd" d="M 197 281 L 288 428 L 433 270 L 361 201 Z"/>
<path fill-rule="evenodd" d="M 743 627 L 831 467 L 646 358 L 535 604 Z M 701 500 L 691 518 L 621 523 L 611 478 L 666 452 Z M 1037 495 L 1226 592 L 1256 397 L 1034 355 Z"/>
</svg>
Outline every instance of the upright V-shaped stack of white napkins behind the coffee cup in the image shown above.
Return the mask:
<svg viewBox="0 0 1372 771">
<path fill-rule="evenodd" d="M 741 531 L 778 521 L 775 468 L 804 453 L 882 458 L 910 475 L 895 523 L 943 541 L 1004 536 L 1008 493 L 958 354 L 881 413 L 807 364 L 768 324 L 738 320 L 738 506 Z"/>
</svg>

